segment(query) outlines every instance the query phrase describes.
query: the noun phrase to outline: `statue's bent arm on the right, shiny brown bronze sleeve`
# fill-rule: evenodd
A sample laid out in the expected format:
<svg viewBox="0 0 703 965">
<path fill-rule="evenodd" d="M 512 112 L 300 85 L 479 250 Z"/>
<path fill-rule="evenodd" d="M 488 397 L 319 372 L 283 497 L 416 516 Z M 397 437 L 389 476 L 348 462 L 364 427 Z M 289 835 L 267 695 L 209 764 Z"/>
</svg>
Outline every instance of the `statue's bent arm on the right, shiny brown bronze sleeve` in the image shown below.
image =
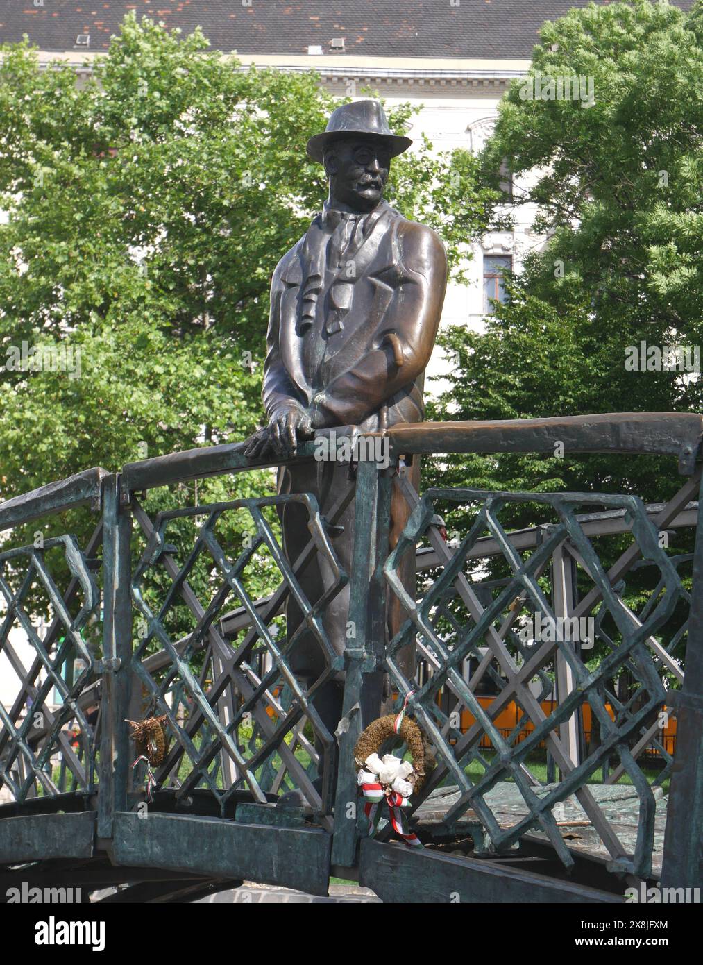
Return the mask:
<svg viewBox="0 0 703 965">
<path fill-rule="evenodd" d="M 315 396 L 315 427 L 359 425 L 429 362 L 445 299 L 445 246 L 437 234 L 413 222 L 402 226 L 398 242 L 400 288 L 393 292 L 370 350 Z"/>
</svg>

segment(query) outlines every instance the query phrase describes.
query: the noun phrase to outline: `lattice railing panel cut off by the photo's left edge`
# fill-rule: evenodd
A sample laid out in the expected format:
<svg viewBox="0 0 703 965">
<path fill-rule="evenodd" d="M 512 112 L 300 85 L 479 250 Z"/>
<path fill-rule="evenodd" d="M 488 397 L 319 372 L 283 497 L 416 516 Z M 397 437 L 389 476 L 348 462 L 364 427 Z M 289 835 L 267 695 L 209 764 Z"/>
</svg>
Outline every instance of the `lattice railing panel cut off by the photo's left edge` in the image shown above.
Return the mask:
<svg viewBox="0 0 703 965">
<path fill-rule="evenodd" d="M 65 565 L 57 565 L 59 559 Z M 60 587 L 52 569 L 78 592 Z M 97 698 L 86 697 L 96 664 L 85 632 L 99 599 L 71 536 L 0 553 L 0 654 L 5 686 L 8 670 L 16 681 L 12 705 L 0 704 L 0 786 L 18 803 L 95 789 Z"/>
</svg>

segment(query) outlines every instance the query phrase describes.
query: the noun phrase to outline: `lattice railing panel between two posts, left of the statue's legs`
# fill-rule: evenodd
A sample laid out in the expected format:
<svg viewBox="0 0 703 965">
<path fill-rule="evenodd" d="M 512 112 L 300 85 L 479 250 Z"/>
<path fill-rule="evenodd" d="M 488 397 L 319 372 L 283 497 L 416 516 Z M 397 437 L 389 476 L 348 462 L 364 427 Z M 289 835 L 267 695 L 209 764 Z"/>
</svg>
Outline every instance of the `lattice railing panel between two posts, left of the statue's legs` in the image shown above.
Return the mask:
<svg viewBox="0 0 703 965">
<path fill-rule="evenodd" d="M 276 513 L 291 502 L 306 511 L 313 550 L 337 574 L 331 589 L 313 602 L 301 588 L 295 561 L 287 561 L 278 534 Z M 248 537 L 238 552 L 231 551 L 218 531 L 231 513 L 243 513 L 248 520 L 243 525 Z M 170 528 L 195 517 L 202 522 L 192 545 L 179 551 L 168 541 Z M 133 575 L 133 598 L 142 615 L 141 626 L 136 620 L 139 639 L 133 669 L 143 685 L 145 707 L 149 713 L 166 715 L 172 740 L 157 770 L 157 782 L 175 787 L 178 798 L 187 798 L 196 787 L 209 788 L 223 813 L 236 790 L 249 789 L 255 801 L 263 803 L 272 793 L 296 786 L 316 813 L 331 813 L 335 742 L 317 714 L 315 694 L 334 672 L 335 654 L 322 615 L 345 575 L 338 569 L 314 499 L 242 499 L 165 511 L 153 524 L 142 511 L 137 518 L 148 542 Z M 279 592 L 263 607 L 250 589 L 262 566 L 273 579 L 272 586 L 279 585 Z M 196 593 L 192 583 L 198 567 Z M 303 624 L 290 639 L 283 632 L 286 598 L 295 600 L 304 614 Z M 185 633 L 182 612 L 179 620 L 171 621 L 176 607 L 187 610 Z M 238 608 L 248 616 L 248 625 L 228 639 L 219 621 Z M 307 687 L 290 663 L 306 633 L 325 655 L 324 670 Z M 154 663 L 158 669 L 151 669 Z M 330 750 L 321 786 L 313 786 L 318 762 L 315 737 Z"/>
</svg>

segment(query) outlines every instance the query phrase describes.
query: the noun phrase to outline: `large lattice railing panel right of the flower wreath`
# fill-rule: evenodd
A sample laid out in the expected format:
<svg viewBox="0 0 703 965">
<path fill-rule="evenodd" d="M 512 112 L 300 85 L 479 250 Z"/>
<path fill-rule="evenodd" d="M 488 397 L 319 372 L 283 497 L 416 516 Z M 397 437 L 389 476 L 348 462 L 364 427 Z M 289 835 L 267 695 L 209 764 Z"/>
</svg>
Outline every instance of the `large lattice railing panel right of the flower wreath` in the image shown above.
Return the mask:
<svg viewBox="0 0 703 965">
<path fill-rule="evenodd" d="M 540 540 L 527 549 L 516 548 L 503 523 L 520 504 L 536 504 L 542 517 L 551 517 L 541 527 Z M 611 586 L 595 538 L 586 536 L 577 518 L 577 510 L 594 505 L 625 510 L 629 532 L 622 539 L 636 545 L 654 574 L 644 602 L 635 609 L 625 602 L 622 587 Z M 436 530 L 437 513 L 446 507 L 468 512 L 466 535 L 453 547 Z M 419 599 L 411 599 L 398 575 L 400 566 L 428 536 L 444 559 L 435 578 L 425 581 Z M 476 554 L 481 538 L 492 540 L 494 571 L 502 569 L 499 580 L 486 579 L 486 561 Z M 456 489 L 430 490 L 419 499 L 385 565 L 392 593 L 408 614 L 390 644 L 386 666 L 401 698 L 415 691 L 409 712 L 437 750 L 439 767 L 423 794 L 442 784 L 458 786 L 446 826 L 455 826 L 471 811 L 497 849 L 537 829 L 570 866 L 573 858 L 554 809 L 575 794 L 616 867 L 642 876 L 649 873 L 656 804 L 651 777 L 635 758 L 645 732 L 656 726 L 662 713 L 664 683 L 671 683 L 675 666 L 669 651 L 681 643 L 680 620 L 689 605 L 677 570 L 681 563 L 662 548 L 656 527 L 635 497 Z M 580 601 L 582 611 L 589 600 L 592 604 L 581 613 Z M 581 624 L 569 620 L 592 613 L 597 620 L 591 639 L 580 639 Z M 546 637 L 541 633 L 543 623 L 552 628 Z M 605 626 L 611 627 L 609 634 Z M 570 639 L 574 631 L 576 641 Z M 421 686 L 404 676 L 395 659 L 413 642 L 429 668 Z M 611 692 L 612 680 L 622 673 L 630 677 L 626 700 Z M 494 695 L 488 702 L 478 694 L 485 684 Z M 452 713 L 441 706 L 447 692 Z M 550 692 L 557 693 L 558 700 L 546 704 Z M 515 717 L 512 730 L 505 733 L 497 719 L 508 706 Z M 585 712 L 597 722 L 600 741 L 582 756 L 579 715 Z M 462 728 L 459 721 L 465 718 L 470 723 Z M 545 787 L 535 774 L 533 761 L 541 748 L 559 769 L 556 785 Z M 617 766 L 608 776 L 612 760 Z M 634 847 L 618 839 L 617 828 L 589 790 L 589 782 L 602 780 L 597 772 L 604 765 L 606 780 L 624 774 L 635 787 L 639 815 Z M 487 800 L 492 788 L 505 781 L 517 787 L 524 801 L 524 816 L 509 826 L 500 823 Z"/>
</svg>

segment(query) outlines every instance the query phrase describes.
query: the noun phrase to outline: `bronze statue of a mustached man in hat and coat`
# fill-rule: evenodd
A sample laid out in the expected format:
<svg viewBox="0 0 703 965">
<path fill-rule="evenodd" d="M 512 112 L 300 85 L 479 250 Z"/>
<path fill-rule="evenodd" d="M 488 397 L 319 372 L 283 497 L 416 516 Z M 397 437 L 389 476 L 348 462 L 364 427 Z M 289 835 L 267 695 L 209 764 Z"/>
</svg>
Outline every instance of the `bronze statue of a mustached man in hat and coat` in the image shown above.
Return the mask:
<svg viewBox="0 0 703 965">
<path fill-rule="evenodd" d="M 262 392 L 269 424 L 253 437 L 250 457 L 271 450 L 290 457 L 298 440 L 311 437 L 317 428 L 378 431 L 422 420 L 424 370 L 445 297 L 446 252 L 437 234 L 408 221 L 383 200 L 391 159 L 411 144 L 409 138 L 392 134 L 375 100 L 338 107 L 325 132 L 308 142 L 308 153 L 325 166 L 329 199 L 274 271 Z M 416 485 L 418 468 L 416 460 Z M 314 494 L 323 516 L 349 484 L 349 466 L 335 461 L 293 463 L 282 467 L 278 479 L 280 493 Z M 332 540 L 347 573 L 354 515 L 352 502 Z M 406 519 L 406 504 L 396 494 L 392 543 Z M 288 504 L 282 523 L 285 553 L 295 559 L 310 538 L 305 510 Z M 414 572 L 407 575 L 414 580 Z M 314 602 L 332 579 L 324 561 L 315 558 L 300 582 Z M 347 586 L 324 619 L 338 654 L 346 642 L 348 607 Z M 300 610 L 290 600 L 289 636 L 300 620 Z M 389 621 L 396 622 L 392 614 Z M 390 629 L 394 632 L 395 627 Z M 323 654 L 312 637 L 296 645 L 291 666 L 309 685 L 322 673 Z M 334 733 L 341 688 L 333 679 L 323 689 L 315 707 Z"/>
</svg>

